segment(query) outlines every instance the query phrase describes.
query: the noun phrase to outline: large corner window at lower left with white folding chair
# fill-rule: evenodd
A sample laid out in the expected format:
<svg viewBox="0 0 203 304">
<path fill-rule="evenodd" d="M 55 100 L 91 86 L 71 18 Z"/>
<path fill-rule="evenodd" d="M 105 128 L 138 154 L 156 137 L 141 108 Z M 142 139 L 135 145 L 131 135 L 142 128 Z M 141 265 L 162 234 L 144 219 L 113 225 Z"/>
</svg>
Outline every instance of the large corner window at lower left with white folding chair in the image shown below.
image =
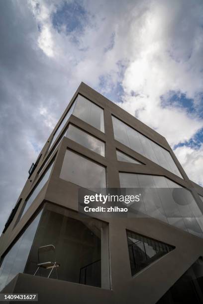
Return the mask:
<svg viewBox="0 0 203 304">
<path fill-rule="evenodd" d="M 52 245 L 52 249 L 44 247 Z M 46 250 L 40 249 L 40 247 Z M 108 224 L 46 203 L 4 256 L 0 291 L 19 273 L 109 288 Z M 38 264 L 49 262 L 48 268 Z M 44 264 L 45 266 L 47 264 Z"/>
</svg>

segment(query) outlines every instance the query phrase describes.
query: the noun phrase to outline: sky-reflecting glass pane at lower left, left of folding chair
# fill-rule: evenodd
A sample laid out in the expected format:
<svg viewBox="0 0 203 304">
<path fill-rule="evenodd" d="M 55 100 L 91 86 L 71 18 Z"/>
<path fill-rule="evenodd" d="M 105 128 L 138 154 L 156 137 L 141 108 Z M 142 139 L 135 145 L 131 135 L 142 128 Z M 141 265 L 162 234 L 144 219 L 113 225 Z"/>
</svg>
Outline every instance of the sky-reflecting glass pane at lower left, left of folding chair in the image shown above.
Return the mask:
<svg viewBox="0 0 203 304">
<path fill-rule="evenodd" d="M 41 212 L 28 226 L 3 258 L 0 266 L 0 291 L 19 273 L 23 272 L 40 220 Z"/>
</svg>

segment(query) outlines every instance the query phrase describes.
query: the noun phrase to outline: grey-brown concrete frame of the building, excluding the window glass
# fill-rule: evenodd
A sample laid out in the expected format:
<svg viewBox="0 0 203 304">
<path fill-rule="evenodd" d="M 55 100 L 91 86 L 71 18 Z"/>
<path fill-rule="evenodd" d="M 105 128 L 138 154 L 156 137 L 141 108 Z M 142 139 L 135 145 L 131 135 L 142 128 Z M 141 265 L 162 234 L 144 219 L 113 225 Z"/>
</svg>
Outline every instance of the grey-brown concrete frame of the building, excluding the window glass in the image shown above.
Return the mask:
<svg viewBox="0 0 203 304">
<path fill-rule="evenodd" d="M 70 116 L 64 129 L 69 123 L 72 123 L 89 134 L 94 135 L 98 139 L 101 139 L 105 142 L 105 157 L 102 157 L 101 155 L 64 137 L 60 145 L 55 149 L 55 152 L 51 152 L 52 157 L 50 157 L 48 163 L 43 167 L 43 170 L 45 170 L 51 159 L 56 155 L 48 182 L 45 184 L 25 215 L 18 222 L 20 210 L 25 199 L 38 180 L 37 172 L 49 156 L 47 151 L 49 149 L 51 139 L 78 93 L 104 109 L 105 133 L 102 133 L 74 115 Z M 183 179 L 116 141 L 113 135 L 112 114 L 161 147 L 168 150 L 179 168 Z M 2 258 L 23 228 L 25 228 L 32 220 L 36 211 L 39 210 L 43 202 L 47 201 L 71 210 L 78 210 L 77 202 L 79 186 L 59 178 L 67 148 L 105 166 L 107 171 L 107 186 L 109 188 L 120 187 L 119 171 L 165 176 L 189 189 L 203 213 L 203 202 L 199 197 L 199 195 L 203 196 L 203 188 L 188 178 L 166 139 L 82 82 L 57 126 L 50 135 L 47 143 L 40 152 L 42 155 L 39 163 L 30 178 L 27 180 L 19 196 L 19 199 L 22 200 L 18 210 L 10 225 L 0 237 L 0 256 Z M 118 161 L 116 157 L 116 149 L 134 157 L 145 165 Z M 101 220 L 108 223 L 110 289 L 102 289 L 43 277 L 33 277 L 28 274 L 19 274 L 4 288 L 2 292 L 38 293 L 39 303 L 126 304 L 135 302 L 138 304 L 155 304 L 177 281 L 177 279 L 179 279 L 200 256 L 203 256 L 202 238 L 170 226 L 157 219 L 101 218 Z M 171 244 L 175 246 L 175 249 L 132 277 L 126 229 Z"/>
</svg>

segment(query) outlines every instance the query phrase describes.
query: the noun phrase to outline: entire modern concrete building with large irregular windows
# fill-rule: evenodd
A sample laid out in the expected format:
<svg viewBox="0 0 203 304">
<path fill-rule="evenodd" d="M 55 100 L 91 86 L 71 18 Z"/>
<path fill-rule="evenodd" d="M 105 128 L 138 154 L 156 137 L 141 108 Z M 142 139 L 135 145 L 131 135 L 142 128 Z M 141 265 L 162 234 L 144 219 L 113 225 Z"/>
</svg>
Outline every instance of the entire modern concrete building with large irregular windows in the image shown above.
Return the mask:
<svg viewBox="0 0 203 304">
<path fill-rule="evenodd" d="M 145 196 L 137 217 L 84 217 L 81 187 Z M 82 82 L 29 170 L 0 257 L 1 293 L 39 303 L 203 303 L 203 188 L 164 137 Z"/>
</svg>

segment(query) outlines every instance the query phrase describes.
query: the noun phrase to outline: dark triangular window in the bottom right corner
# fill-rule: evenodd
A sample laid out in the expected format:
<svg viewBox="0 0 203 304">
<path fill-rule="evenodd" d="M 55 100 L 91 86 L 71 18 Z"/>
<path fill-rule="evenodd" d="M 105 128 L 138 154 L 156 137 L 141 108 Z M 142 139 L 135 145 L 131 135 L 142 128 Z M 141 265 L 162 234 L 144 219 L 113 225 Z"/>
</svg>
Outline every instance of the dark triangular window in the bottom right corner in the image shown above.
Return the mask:
<svg viewBox="0 0 203 304">
<path fill-rule="evenodd" d="M 199 258 L 157 304 L 203 303 L 203 258 Z"/>
</svg>

